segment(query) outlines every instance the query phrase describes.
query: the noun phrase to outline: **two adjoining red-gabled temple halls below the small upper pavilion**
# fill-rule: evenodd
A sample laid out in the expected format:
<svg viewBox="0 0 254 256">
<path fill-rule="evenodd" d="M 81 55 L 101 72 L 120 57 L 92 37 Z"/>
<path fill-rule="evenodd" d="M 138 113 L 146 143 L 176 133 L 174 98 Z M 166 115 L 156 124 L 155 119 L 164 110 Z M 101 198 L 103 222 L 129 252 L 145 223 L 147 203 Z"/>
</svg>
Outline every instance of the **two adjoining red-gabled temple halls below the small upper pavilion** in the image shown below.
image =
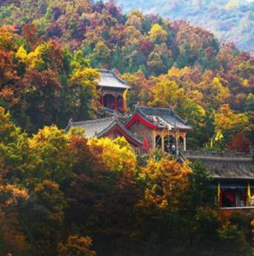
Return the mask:
<svg viewBox="0 0 254 256">
<path fill-rule="evenodd" d="M 135 152 L 151 151 L 154 148 L 171 152 L 175 145 L 179 151 L 186 150 L 187 132 L 192 127 L 176 115 L 171 108 L 135 107 L 126 121 L 119 121 L 117 115 L 81 122 L 70 122 L 70 127 L 84 128 L 86 138 L 124 136 Z M 137 151 L 137 149 L 139 149 Z"/>
</svg>

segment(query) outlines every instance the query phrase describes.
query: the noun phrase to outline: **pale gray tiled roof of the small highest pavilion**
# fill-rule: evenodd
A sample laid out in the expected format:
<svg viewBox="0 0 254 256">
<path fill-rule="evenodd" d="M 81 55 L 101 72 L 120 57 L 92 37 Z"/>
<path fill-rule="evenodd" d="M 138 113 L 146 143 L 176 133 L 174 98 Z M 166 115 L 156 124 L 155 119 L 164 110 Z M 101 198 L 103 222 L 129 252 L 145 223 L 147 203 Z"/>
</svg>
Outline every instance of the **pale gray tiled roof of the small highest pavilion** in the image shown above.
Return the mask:
<svg viewBox="0 0 254 256">
<path fill-rule="evenodd" d="M 127 86 L 125 81 L 121 80 L 119 76 L 112 70 L 99 70 L 100 72 L 100 81 L 99 86 L 101 87 L 111 87 L 111 88 L 120 88 L 127 89 L 130 86 Z"/>
</svg>

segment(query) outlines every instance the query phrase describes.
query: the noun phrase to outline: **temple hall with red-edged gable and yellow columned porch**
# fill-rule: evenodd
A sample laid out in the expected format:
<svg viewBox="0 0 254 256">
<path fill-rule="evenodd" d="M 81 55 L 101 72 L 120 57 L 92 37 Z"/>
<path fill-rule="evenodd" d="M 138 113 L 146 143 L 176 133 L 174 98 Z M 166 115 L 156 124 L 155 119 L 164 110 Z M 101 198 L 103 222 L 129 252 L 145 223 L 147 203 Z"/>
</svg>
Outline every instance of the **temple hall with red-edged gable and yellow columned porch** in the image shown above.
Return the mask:
<svg viewBox="0 0 254 256">
<path fill-rule="evenodd" d="M 193 129 L 171 108 L 144 106 L 135 108 L 125 127 L 141 141 L 147 142 L 149 148 L 159 148 L 168 153 L 173 145 L 185 151 L 187 132 Z"/>
</svg>

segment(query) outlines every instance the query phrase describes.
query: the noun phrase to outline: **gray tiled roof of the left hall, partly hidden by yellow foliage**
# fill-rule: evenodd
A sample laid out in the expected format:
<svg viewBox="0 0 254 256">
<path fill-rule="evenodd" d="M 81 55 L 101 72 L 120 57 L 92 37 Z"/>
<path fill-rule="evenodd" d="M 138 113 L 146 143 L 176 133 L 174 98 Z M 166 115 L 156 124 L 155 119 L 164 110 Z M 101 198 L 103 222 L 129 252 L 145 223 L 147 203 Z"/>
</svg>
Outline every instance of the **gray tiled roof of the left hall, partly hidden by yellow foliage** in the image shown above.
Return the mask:
<svg viewBox="0 0 254 256">
<path fill-rule="evenodd" d="M 137 144 L 142 145 L 142 142 L 135 137 L 130 131 L 128 131 L 123 124 L 116 117 L 109 118 L 100 118 L 96 120 L 89 121 L 81 121 L 81 122 L 72 122 L 71 127 L 81 127 L 85 129 L 86 138 L 91 139 L 93 136 L 98 136 L 98 138 L 107 134 L 110 129 L 112 129 L 115 125 L 119 125 L 120 129 L 127 134 L 130 138 L 132 138 Z M 67 128 L 68 131 L 69 127 Z M 128 139 L 127 139 L 128 140 Z"/>
</svg>

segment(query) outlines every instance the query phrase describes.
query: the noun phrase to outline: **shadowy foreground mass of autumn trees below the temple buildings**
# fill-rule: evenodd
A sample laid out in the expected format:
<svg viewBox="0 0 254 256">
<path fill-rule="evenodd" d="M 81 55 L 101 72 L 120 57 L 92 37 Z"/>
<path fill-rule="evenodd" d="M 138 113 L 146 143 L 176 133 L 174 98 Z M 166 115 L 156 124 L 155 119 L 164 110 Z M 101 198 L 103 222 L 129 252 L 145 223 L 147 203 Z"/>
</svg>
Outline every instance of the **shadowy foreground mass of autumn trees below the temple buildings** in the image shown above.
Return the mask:
<svg viewBox="0 0 254 256">
<path fill-rule="evenodd" d="M 221 218 L 199 163 L 159 152 L 140 161 L 124 138 L 88 141 L 55 126 L 29 137 L 3 108 L 0 120 L 1 255 L 251 251 L 250 220 Z"/>
</svg>

